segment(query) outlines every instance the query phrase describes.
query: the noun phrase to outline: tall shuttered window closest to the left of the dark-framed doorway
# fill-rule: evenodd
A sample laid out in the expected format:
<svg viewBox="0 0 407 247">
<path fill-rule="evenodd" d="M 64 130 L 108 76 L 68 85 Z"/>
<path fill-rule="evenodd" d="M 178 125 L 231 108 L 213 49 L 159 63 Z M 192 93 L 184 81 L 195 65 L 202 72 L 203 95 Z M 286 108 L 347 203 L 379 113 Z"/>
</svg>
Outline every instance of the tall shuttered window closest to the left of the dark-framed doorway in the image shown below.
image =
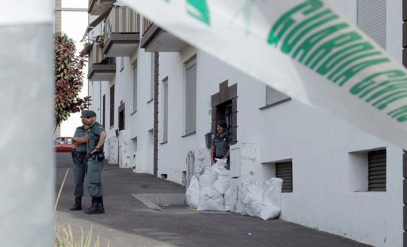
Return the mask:
<svg viewBox="0 0 407 247">
<path fill-rule="evenodd" d="M 188 134 L 196 130 L 197 57 L 186 63 L 185 101 L 185 133 Z"/>
</svg>

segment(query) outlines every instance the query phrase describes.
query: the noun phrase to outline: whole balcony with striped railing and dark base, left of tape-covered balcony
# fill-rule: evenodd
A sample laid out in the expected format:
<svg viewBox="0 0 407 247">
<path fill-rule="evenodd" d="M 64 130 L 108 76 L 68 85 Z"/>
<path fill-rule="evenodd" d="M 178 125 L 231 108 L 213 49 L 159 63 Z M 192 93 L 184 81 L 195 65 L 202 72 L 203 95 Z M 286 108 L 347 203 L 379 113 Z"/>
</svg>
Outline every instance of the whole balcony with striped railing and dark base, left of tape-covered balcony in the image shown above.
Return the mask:
<svg viewBox="0 0 407 247">
<path fill-rule="evenodd" d="M 129 7 L 113 7 L 105 20 L 103 54 L 129 57 L 140 44 L 140 15 Z"/>
</svg>

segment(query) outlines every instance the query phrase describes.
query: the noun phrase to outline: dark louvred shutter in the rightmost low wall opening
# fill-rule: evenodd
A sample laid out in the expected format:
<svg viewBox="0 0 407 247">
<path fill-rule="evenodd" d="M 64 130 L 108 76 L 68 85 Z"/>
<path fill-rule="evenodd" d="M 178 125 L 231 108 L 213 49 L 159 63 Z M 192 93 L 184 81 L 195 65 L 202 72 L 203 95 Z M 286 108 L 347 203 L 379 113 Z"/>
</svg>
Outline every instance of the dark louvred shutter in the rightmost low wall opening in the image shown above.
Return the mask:
<svg viewBox="0 0 407 247">
<path fill-rule="evenodd" d="M 386 191 L 386 150 L 368 152 L 369 191 Z"/>
</svg>

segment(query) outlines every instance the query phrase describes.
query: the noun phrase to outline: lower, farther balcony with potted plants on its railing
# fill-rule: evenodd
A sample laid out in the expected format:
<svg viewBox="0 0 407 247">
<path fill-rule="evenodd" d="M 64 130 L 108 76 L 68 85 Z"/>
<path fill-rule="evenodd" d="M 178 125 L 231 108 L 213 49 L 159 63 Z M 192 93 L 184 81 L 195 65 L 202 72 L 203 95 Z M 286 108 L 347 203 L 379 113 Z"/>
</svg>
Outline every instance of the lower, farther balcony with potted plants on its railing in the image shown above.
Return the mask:
<svg viewBox="0 0 407 247">
<path fill-rule="evenodd" d="M 94 43 L 89 55 L 90 81 L 109 81 L 116 73 L 116 61 L 114 57 L 106 57 L 102 53 L 102 45 Z"/>
</svg>

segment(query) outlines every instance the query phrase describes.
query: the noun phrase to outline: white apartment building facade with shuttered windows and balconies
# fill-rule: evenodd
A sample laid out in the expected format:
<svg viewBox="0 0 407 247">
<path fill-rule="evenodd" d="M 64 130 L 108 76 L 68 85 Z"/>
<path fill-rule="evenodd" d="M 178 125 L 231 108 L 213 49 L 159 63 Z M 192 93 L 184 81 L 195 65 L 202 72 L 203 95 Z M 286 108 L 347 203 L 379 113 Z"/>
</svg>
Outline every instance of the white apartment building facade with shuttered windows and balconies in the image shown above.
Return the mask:
<svg viewBox="0 0 407 247">
<path fill-rule="evenodd" d="M 404 61 L 402 1 L 331 3 Z M 109 163 L 187 186 L 210 166 L 210 138 L 224 119 L 233 212 L 243 213 L 246 183 L 277 176 L 280 218 L 374 246 L 407 244 L 401 148 L 252 79 L 120 1 L 90 0 L 88 13 L 89 38 L 103 37 L 88 79 Z"/>
</svg>

